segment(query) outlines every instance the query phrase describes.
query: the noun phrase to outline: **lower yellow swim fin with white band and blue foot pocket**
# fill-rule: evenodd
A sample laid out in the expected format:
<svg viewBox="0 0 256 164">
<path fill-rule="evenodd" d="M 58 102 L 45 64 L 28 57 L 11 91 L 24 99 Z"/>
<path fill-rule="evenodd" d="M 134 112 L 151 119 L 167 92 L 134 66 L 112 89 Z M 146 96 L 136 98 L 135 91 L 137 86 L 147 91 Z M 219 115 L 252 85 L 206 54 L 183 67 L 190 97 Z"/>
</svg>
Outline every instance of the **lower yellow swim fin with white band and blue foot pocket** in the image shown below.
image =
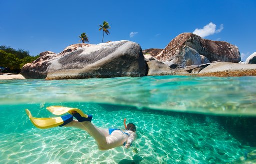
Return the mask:
<svg viewBox="0 0 256 164">
<path fill-rule="evenodd" d="M 64 126 L 73 120 L 73 116 L 70 114 L 55 118 L 35 118 L 32 116 L 28 109 L 26 109 L 26 114 L 28 115 L 33 125 L 41 129 Z"/>
</svg>

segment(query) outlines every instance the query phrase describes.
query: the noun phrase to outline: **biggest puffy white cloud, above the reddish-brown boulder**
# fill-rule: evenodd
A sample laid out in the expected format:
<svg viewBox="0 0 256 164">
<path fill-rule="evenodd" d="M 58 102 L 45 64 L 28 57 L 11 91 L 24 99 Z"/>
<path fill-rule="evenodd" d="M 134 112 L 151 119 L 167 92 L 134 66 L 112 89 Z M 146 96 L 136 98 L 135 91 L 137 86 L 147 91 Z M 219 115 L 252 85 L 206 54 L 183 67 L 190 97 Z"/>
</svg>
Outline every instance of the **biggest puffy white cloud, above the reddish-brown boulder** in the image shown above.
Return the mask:
<svg viewBox="0 0 256 164">
<path fill-rule="evenodd" d="M 202 29 L 196 28 L 193 33 L 201 36 L 201 37 L 206 37 L 209 35 L 213 35 L 215 33 L 219 33 L 224 29 L 224 24 L 221 24 L 219 29 L 216 30 L 216 24 L 213 24 L 210 22 L 209 24 L 205 25 Z"/>
</svg>

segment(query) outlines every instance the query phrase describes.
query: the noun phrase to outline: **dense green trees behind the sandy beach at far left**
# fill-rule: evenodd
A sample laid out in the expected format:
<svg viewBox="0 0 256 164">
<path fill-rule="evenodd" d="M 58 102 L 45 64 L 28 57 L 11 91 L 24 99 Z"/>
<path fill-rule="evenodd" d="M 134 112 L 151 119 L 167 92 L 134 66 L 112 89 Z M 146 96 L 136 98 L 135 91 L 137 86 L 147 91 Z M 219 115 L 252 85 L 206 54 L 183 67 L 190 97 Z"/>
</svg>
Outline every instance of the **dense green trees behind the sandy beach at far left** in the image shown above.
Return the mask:
<svg viewBox="0 0 256 164">
<path fill-rule="evenodd" d="M 37 56 L 30 56 L 29 51 L 22 49 L 15 50 L 7 46 L 0 46 L 0 66 L 8 67 L 9 73 L 19 73 L 22 66 L 37 59 Z"/>
</svg>

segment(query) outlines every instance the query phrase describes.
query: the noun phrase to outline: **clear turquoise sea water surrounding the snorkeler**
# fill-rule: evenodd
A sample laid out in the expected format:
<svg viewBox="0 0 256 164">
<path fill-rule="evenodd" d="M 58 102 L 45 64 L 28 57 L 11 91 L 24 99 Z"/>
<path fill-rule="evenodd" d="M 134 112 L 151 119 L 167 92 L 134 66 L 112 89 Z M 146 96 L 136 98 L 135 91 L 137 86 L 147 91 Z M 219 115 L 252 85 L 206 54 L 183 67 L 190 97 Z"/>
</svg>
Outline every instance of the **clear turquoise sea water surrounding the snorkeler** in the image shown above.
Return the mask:
<svg viewBox="0 0 256 164">
<path fill-rule="evenodd" d="M 256 77 L 0 80 L 0 163 L 256 162 Z M 137 125 L 132 148 L 100 151 L 85 131 L 35 128 L 47 106 L 77 107 L 102 128 Z"/>
</svg>

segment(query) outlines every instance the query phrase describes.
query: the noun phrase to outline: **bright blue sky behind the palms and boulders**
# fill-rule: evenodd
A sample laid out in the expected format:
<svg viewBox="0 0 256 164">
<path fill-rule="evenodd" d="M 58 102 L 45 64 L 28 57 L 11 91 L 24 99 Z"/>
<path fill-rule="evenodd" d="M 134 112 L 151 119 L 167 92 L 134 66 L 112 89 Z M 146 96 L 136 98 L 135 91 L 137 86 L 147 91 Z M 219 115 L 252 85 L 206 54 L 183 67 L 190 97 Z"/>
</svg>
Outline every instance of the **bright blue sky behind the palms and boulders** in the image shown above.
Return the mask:
<svg viewBox="0 0 256 164">
<path fill-rule="evenodd" d="M 0 45 L 30 55 L 61 52 L 102 41 L 99 24 L 109 22 L 105 41 L 130 40 L 142 49 L 165 48 L 177 35 L 195 32 L 238 46 L 244 60 L 256 52 L 256 0 L 0 0 Z"/>
</svg>

